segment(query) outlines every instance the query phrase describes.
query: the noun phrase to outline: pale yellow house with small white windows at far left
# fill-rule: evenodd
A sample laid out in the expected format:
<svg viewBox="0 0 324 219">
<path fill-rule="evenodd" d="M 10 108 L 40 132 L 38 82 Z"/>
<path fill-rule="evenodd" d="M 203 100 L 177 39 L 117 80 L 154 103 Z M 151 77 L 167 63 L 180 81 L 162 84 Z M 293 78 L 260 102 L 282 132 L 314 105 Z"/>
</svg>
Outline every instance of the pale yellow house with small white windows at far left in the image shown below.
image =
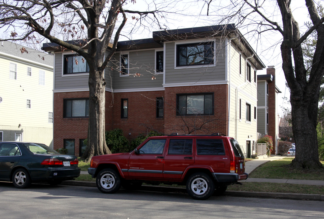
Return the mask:
<svg viewBox="0 0 324 219">
<path fill-rule="evenodd" d="M 22 48 L 0 42 L 0 141 L 52 147 L 53 56 Z"/>
</svg>

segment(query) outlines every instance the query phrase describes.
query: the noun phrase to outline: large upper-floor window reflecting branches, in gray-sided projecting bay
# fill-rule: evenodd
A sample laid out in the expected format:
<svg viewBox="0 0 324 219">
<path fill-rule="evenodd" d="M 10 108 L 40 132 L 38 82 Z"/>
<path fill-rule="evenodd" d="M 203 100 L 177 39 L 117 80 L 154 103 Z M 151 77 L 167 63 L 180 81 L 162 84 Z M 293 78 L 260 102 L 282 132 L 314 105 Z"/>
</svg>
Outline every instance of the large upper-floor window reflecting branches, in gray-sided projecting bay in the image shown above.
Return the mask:
<svg viewBox="0 0 324 219">
<path fill-rule="evenodd" d="M 213 42 L 177 45 L 177 66 L 214 64 Z"/>
</svg>

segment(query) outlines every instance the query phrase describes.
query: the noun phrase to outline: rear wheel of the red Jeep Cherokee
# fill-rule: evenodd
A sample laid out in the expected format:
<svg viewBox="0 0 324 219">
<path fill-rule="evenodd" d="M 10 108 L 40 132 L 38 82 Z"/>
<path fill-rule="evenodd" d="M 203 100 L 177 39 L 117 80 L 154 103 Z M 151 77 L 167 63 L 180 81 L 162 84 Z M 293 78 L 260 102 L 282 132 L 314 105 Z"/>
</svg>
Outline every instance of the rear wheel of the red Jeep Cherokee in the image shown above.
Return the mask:
<svg viewBox="0 0 324 219">
<path fill-rule="evenodd" d="M 215 185 L 208 174 L 198 172 L 188 178 L 186 188 L 191 198 L 204 200 L 214 193 Z"/>
</svg>

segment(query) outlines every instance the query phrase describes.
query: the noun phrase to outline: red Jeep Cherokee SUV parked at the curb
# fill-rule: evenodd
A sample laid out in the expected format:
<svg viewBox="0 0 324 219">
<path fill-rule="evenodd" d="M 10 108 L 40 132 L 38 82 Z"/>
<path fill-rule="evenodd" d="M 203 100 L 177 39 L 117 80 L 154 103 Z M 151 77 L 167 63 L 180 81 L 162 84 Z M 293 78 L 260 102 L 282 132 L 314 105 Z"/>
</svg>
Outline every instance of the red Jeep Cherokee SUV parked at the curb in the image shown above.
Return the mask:
<svg viewBox="0 0 324 219">
<path fill-rule="evenodd" d="M 247 179 L 244 171 L 239 144 L 219 133 L 149 137 L 130 153 L 92 157 L 88 168 L 104 193 L 114 193 L 121 186 L 137 189 L 145 181 L 163 182 L 186 185 L 188 194 L 199 200 Z"/>
</svg>

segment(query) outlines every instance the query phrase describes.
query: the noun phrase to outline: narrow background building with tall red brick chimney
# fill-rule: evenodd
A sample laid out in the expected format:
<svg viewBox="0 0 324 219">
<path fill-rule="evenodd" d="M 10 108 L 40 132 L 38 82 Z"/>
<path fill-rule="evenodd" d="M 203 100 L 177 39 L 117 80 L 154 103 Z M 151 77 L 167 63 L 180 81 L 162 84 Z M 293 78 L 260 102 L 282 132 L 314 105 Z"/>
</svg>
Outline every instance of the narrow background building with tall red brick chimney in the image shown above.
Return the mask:
<svg viewBox="0 0 324 219">
<path fill-rule="evenodd" d="M 275 68 L 268 66 L 267 74 L 258 75 L 258 132 L 272 136 L 272 154 L 278 151 L 279 115 L 278 89 L 275 83 Z"/>
</svg>

